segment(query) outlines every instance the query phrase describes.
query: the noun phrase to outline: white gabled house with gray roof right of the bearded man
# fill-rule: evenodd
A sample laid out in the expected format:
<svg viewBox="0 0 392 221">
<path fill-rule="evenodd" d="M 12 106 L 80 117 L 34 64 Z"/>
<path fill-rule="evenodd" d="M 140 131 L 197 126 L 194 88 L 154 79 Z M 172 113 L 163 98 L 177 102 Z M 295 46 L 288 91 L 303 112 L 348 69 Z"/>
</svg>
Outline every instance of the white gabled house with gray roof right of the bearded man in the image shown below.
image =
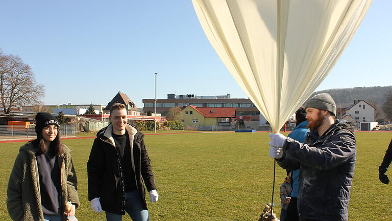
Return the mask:
<svg viewBox="0 0 392 221">
<path fill-rule="evenodd" d="M 374 107 L 364 100 L 354 100 L 354 103 L 344 110 L 346 116 L 350 116 L 356 122 L 374 122 Z"/>
</svg>

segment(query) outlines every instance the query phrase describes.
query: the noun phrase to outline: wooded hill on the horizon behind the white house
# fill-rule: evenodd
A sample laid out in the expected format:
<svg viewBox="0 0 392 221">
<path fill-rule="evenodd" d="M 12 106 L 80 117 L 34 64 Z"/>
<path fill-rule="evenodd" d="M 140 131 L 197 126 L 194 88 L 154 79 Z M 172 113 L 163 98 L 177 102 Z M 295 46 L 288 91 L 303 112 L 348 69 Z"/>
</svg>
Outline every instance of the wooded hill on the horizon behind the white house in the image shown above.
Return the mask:
<svg viewBox="0 0 392 221">
<path fill-rule="evenodd" d="M 376 104 L 378 107 L 385 102 L 384 94 L 392 90 L 392 86 L 354 87 L 348 89 L 329 89 L 314 92 L 312 96 L 321 93 L 328 93 L 335 100 L 336 106 L 348 107 L 354 104 L 354 100 L 364 100 L 369 104 Z M 376 103 L 375 103 L 376 102 Z"/>
</svg>

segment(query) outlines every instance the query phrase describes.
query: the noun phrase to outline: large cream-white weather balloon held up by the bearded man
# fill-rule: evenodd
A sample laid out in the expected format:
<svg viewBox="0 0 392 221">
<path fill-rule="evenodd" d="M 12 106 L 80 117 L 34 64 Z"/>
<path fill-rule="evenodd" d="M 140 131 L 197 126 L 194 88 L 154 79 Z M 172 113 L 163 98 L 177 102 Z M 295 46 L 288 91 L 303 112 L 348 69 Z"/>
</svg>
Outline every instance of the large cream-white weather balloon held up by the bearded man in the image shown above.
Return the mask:
<svg viewBox="0 0 392 221">
<path fill-rule="evenodd" d="M 371 0 L 192 0 L 216 53 L 274 132 L 324 80 Z"/>
</svg>

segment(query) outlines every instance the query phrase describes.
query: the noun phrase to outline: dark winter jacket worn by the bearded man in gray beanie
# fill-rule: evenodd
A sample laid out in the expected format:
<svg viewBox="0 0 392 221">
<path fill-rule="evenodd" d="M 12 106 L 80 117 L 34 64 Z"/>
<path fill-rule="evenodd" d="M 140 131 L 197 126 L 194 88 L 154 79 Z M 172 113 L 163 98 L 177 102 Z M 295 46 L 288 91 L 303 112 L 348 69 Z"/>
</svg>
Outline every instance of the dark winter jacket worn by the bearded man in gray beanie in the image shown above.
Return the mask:
<svg viewBox="0 0 392 221">
<path fill-rule="evenodd" d="M 356 144 L 353 129 L 335 121 L 321 137 L 308 133 L 304 144 L 288 138 L 278 164 L 300 169 L 298 213 L 316 220 L 348 220 Z"/>
</svg>

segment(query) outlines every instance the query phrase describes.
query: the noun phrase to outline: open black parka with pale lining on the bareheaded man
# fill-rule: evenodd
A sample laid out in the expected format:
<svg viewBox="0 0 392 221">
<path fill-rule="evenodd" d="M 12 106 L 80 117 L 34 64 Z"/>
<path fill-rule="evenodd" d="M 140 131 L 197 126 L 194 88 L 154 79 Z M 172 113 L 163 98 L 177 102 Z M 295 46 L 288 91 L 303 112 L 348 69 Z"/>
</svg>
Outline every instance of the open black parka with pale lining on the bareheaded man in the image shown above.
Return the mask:
<svg viewBox="0 0 392 221">
<path fill-rule="evenodd" d="M 131 163 L 135 172 L 137 190 L 143 208 L 145 203 L 144 184 L 148 191 L 156 189 L 150 157 L 144 146 L 144 135 L 131 125 L 126 126 L 131 146 Z M 88 200 L 100 198 L 102 210 L 125 214 L 125 186 L 121 161 L 112 138 L 112 124 L 97 133 L 87 162 Z"/>
</svg>

